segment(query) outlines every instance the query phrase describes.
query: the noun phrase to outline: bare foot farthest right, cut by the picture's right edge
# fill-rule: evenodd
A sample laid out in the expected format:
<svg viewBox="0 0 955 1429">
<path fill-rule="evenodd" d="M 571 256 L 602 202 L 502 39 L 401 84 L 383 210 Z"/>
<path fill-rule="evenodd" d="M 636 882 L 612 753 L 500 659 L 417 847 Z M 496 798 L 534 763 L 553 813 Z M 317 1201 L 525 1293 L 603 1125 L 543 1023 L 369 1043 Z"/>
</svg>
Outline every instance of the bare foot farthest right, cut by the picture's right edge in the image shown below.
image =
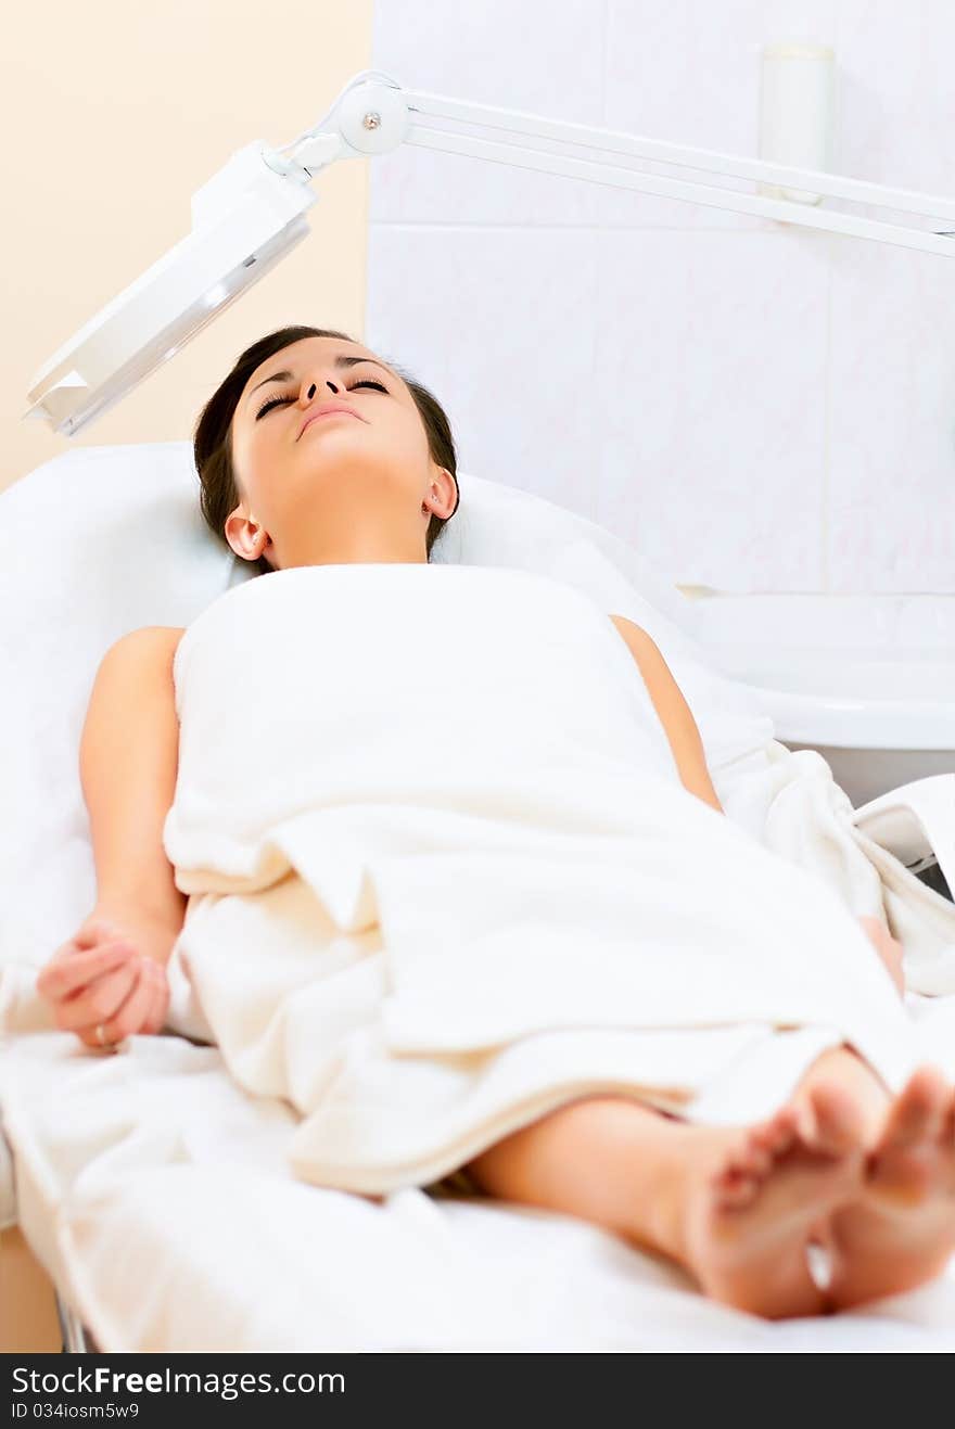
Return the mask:
<svg viewBox="0 0 955 1429">
<path fill-rule="evenodd" d="M 869 1152 L 862 1196 L 831 1222 L 839 1309 L 912 1290 L 955 1252 L 955 1090 L 921 1067 Z"/>
</svg>

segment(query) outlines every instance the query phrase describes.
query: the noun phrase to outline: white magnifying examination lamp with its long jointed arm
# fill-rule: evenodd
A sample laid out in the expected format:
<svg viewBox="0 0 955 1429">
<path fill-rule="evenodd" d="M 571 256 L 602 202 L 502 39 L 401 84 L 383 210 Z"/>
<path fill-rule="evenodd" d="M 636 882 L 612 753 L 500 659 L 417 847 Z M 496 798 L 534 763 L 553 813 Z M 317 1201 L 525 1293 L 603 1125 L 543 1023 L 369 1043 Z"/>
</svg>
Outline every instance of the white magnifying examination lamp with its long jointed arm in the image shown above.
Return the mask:
<svg viewBox="0 0 955 1429">
<path fill-rule="evenodd" d="M 466 129 L 432 127 L 427 120 L 452 120 L 495 133 L 480 137 Z M 522 143 L 525 139 L 543 140 L 556 149 L 528 147 Z M 40 367 L 27 393 L 30 407 L 23 420 L 46 420 L 54 432 L 76 436 L 306 237 L 305 216 L 317 199 L 309 187 L 316 173 L 337 159 L 367 159 L 403 143 L 955 256 L 952 231 L 813 210 L 786 197 L 645 173 L 603 156 L 645 159 L 735 180 L 811 190 L 832 199 L 944 219 L 955 229 L 955 200 L 951 199 L 569 124 L 520 110 L 463 103 L 445 94 L 407 90 L 379 70 L 363 70 L 310 130 L 282 149 L 270 149 L 260 140 L 246 144 L 193 194 L 192 233 Z M 572 154 L 569 149 L 589 153 Z"/>
</svg>

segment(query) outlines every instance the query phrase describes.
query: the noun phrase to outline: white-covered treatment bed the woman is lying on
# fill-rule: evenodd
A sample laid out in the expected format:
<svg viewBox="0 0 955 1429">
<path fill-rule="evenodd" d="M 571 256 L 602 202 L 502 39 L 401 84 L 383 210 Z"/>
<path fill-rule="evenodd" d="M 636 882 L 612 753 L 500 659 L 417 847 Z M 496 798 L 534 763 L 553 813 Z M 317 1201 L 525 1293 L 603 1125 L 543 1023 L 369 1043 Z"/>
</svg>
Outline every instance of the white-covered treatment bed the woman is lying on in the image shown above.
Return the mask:
<svg viewBox="0 0 955 1429">
<path fill-rule="evenodd" d="M 433 559 L 556 574 L 643 624 L 693 706 L 728 812 L 763 747 L 819 780 L 815 756 L 773 746 L 768 720 L 708 670 L 681 629 L 681 597 L 633 553 L 515 489 L 463 474 L 460 489 Z M 379 1206 L 306 1185 L 287 1165 L 295 1110 L 244 1093 L 217 1047 L 167 1032 L 99 1053 L 54 1030 L 33 982 L 94 902 L 77 752 L 99 659 L 126 630 L 189 624 L 247 573 L 202 524 L 187 443 L 71 452 L 3 493 L 0 513 L 13 536 L 3 642 L 17 673 L 0 739 L 13 815 L 0 833 L 0 1229 L 19 1222 L 96 1346 L 955 1345 L 955 1265 L 924 1290 L 852 1315 L 769 1325 L 708 1303 L 676 1269 L 568 1216 L 416 1187 Z M 756 806 L 741 803 L 741 817 Z M 945 989 L 949 965 L 935 956 L 934 966 Z M 925 1059 L 955 1076 L 955 982 L 908 1002 Z"/>
</svg>

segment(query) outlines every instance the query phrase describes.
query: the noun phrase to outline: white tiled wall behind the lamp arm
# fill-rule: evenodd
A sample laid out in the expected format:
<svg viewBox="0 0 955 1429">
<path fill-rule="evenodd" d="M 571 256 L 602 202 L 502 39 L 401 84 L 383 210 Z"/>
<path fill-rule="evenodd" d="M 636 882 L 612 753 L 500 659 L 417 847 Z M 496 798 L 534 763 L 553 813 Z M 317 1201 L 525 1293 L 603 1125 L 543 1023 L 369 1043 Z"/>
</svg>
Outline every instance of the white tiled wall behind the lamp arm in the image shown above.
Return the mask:
<svg viewBox="0 0 955 1429">
<path fill-rule="evenodd" d="M 783 40 L 835 47 L 839 173 L 955 197 L 948 0 L 377 0 L 372 64 L 756 156 Z M 407 144 L 370 219 L 365 342 L 435 392 L 462 472 L 678 582 L 955 592 L 955 257 Z"/>
</svg>

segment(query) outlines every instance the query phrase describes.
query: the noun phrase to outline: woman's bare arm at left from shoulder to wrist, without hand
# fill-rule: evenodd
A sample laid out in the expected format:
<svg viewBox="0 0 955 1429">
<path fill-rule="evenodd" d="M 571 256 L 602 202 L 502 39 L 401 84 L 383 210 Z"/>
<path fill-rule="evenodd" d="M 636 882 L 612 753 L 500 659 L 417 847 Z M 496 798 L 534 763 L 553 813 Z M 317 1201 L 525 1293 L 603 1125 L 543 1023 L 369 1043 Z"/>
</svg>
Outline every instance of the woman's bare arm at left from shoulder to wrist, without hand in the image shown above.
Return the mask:
<svg viewBox="0 0 955 1429">
<path fill-rule="evenodd" d="M 187 896 L 163 847 L 179 769 L 173 656 L 182 630 L 146 626 L 103 656 L 80 740 L 97 905 L 133 906 L 182 929 Z"/>
</svg>

